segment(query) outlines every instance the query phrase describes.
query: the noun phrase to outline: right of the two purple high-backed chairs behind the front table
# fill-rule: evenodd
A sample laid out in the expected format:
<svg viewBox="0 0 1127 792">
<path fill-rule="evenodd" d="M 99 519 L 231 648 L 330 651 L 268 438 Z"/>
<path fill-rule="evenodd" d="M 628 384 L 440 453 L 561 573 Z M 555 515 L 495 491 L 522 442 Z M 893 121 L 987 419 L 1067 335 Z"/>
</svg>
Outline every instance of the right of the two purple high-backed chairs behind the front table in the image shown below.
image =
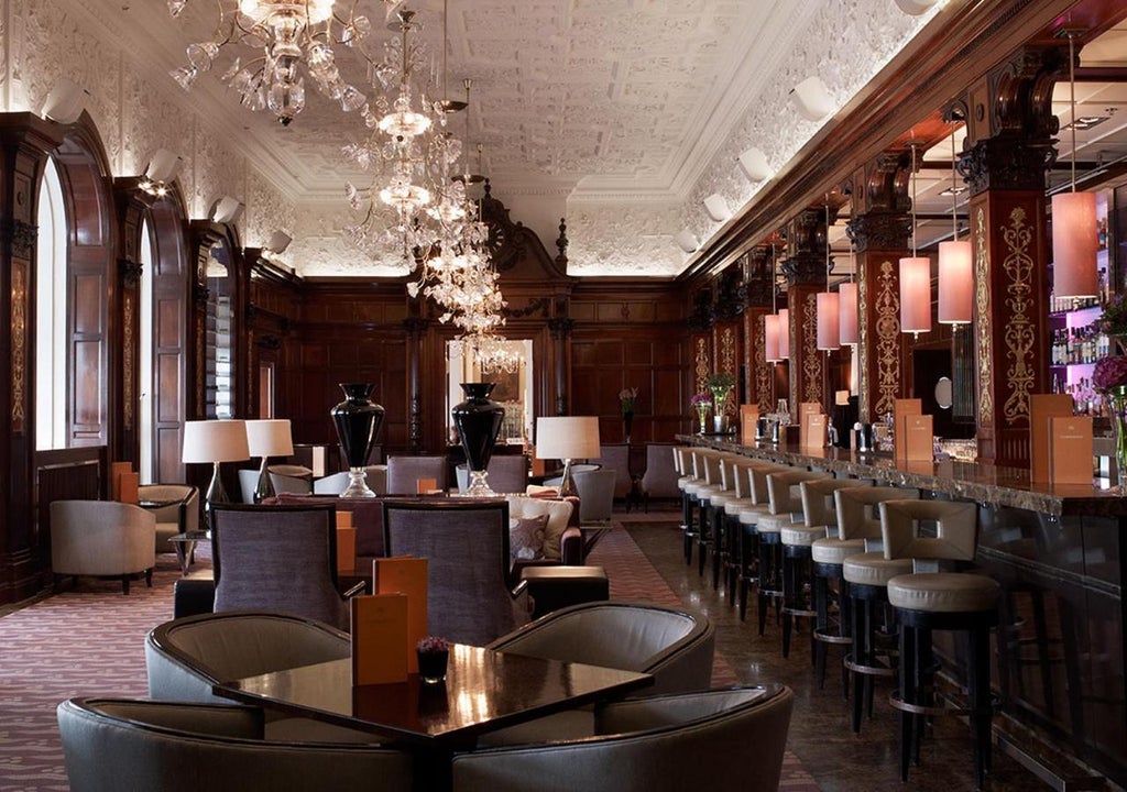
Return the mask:
<svg viewBox="0 0 1127 792">
<path fill-rule="evenodd" d="M 427 560 L 428 630 L 483 646 L 527 621 L 509 558 L 505 500 L 383 501 L 388 555 Z"/>
</svg>

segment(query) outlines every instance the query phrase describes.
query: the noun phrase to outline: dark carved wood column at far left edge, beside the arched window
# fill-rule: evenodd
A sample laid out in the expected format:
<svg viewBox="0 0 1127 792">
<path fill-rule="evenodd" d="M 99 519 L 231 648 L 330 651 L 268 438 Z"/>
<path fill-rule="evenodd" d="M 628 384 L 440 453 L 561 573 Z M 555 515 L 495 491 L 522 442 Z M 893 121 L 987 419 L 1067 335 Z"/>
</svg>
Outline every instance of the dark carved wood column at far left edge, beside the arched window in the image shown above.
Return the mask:
<svg viewBox="0 0 1127 792">
<path fill-rule="evenodd" d="M 32 519 L 35 453 L 32 323 L 39 175 L 62 130 L 30 113 L 0 119 L 0 604 L 39 589 L 45 543 Z"/>
</svg>

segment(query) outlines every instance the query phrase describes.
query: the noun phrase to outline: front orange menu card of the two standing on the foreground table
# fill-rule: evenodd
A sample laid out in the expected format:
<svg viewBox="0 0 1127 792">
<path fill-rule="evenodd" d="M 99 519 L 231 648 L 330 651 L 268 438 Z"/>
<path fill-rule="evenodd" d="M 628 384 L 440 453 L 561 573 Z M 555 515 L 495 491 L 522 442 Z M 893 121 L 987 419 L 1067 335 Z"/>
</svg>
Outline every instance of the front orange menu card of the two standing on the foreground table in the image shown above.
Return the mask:
<svg viewBox="0 0 1127 792">
<path fill-rule="evenodd" d="M 353 685 L 407 682 L 407 597 L 373 594 L 349 602 Z"/>
</svg>

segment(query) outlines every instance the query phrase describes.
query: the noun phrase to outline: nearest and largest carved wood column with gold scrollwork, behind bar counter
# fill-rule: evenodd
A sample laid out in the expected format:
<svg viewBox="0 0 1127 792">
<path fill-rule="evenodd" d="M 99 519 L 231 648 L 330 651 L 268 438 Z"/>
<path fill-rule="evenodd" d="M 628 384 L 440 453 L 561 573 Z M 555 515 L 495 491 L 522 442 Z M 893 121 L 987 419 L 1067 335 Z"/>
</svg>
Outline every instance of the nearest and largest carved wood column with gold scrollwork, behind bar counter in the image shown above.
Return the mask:
<svg viewBox="0 0 1127 792">
<path fill-rule="evenodd" d="M 970 186 L 978 456 L 1029 464 L 1029 397 L 1049 390 L 1045 171 L 1067 50 L 1027 47 L 969 90 L 959 170 Z"/>
</svg>

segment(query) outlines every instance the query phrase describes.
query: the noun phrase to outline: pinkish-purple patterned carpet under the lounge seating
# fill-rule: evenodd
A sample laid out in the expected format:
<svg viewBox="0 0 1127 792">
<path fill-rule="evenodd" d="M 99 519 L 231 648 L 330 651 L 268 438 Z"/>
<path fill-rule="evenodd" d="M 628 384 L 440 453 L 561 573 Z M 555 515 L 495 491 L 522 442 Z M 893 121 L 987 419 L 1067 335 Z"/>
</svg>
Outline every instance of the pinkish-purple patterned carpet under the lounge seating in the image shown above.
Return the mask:
<svg viewBox="0 0 1127 792">
<path fill-rule="evenodd" d="M 197 568 L 208 561 L 197 553 Z M 681 605 L 673 590 L 625 531 L 610 532 L 591 562 L 603 566 L 615 599 Z M 179 569 L 161 557 L 153 587 L 82 578 L 66 590 L 0 617 L 0 791 L 68 790 L 55 706 L 76 695 L 144 697 L 144 637 L 171 619 L 172 584 Z M 717 657 L 713 683 L 736 675 Z M 798 759 L 787 754 L 781 790 L 817 792 Z"/>
</svg>

